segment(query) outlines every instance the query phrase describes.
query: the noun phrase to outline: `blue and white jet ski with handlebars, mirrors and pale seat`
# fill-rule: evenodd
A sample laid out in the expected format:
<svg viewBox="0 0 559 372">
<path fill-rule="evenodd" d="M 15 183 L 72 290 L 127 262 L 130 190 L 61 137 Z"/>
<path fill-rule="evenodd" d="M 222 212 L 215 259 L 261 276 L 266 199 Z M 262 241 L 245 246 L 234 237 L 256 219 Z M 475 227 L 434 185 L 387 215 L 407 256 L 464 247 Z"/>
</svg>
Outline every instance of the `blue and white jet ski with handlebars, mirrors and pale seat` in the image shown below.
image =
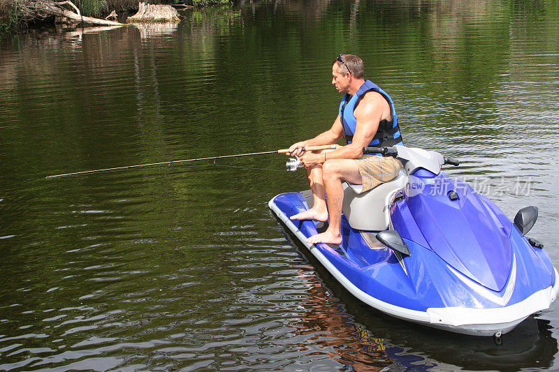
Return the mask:
<svg viewBox="0 0 559 372">
<path fill-rule="evenodd" d="M 514 221 L 442 165 L 437 151 L 395 145 L 364 153 L 394 156 L 402 170 L 365 193 L 344 183 L 342 244 L 308 244 L 326 223 L 291 216 L 312 207 L 310 191 L 282 193 L 269 207 L 354 297 L 379 311 L 458 334 L 501 336 L 549 308 L 558 272 L 543 244 L 526 237 L 537 207 Z M 290 159 L 288 168 L 297 168 Z"/>
</svg>

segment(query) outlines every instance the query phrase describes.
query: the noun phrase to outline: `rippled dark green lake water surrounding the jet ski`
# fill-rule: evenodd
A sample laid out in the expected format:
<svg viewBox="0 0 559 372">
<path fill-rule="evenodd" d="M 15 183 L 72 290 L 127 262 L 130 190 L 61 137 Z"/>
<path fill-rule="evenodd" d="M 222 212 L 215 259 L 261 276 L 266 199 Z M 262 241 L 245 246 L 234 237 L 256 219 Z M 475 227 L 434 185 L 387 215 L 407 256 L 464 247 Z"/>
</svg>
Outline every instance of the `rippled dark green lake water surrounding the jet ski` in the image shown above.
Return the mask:
<svg viewBox="0 0 559 372">
<path fill-rule="evenodd" d="M 268 210 L 307 188 L 284 156 L 44 177 L 288 147 L 331 125 L 330 64 L 353 52 L 393 96 L 408 145 L 460 158 L 453 177 L 511 218 L 539 207 L 530 235 L 559 267 L 557 3 L 184 16 L 0 41 L 0 369 L 556 368 L 557 303 L 500 345 L 356 303 Z"/>
</svg>

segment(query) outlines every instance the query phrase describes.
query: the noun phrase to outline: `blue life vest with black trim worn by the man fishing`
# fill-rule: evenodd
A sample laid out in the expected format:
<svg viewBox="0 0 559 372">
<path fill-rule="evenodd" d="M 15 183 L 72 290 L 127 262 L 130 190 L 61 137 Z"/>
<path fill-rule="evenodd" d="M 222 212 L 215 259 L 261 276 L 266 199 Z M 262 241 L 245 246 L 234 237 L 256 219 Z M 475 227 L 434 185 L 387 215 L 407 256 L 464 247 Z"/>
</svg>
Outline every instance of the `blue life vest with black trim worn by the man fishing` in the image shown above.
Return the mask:
<svg viewBox="0 0 559 372">
<path fill-rule="evenodd" d="M 380 89 L 377 84 L 371 82 L 370 80 L 365 80 L 354 96 L 346 94 L 342 103 L 340 103 L 340 119 L 342 120 L 344 137 L 347 143 L 351 143 L 355 133 L 355 126 L 357 125 L 357 119 L 355 119 L 354 115 L 355 105 L 357 101 L 359 101 L 359 98 L 368 91 L 376 91 L 377 93 L 382 94 L 390 105 L 390 114 L 392 117 L 391 121 L 386 119 L 380 121 L 377 133 L 375 134 L 375 137 L 372 138 L 372 141 L 368 144 L 368 146 L 384 147 L 393 146 L 395 144 L 404 144 L 402 142 L 402 135 L 400 134 L 400 127 L 398 126 L 398 117 L 396 116 L 396 110 L 394 108 L 392 98 L 390 98 L 386 91 Z"/>
</svg>

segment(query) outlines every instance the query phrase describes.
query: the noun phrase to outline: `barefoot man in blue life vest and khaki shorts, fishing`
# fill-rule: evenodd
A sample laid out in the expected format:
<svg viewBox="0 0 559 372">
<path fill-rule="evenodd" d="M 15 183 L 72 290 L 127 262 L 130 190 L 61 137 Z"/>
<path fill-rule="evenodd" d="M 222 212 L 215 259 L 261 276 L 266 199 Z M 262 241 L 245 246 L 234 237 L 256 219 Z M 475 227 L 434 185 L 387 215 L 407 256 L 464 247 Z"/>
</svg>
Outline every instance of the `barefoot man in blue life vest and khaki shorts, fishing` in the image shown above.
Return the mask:
<svg viewBox="0 0 559 372">
<path fill-rule="evenodd" d="M 400 172 L 401 164 L 395 158 L 363 154 L 365 146 L 403 144 L 392 99 L 376 84 L 364 80 L 363 70 L 363 61 L 353 54 L 340 54 L 333 61 L 332 84 L 345 94 L 337 119 L 328 131 L 289 147 L 289 154 L 300 156 L 305 165 L 314 199 L 311 209 L 291 219 L 328 221 L 328 212 L 330 215 L 326 231 L 307 239 L 310 244 L 342 243 L 342 181 L 353 184 L 354 191 L 362 193 L 390 181 Z M 308 146 L 335 144 L 342 135 L 346 146 L 303 151 Z"/>
</svg>

